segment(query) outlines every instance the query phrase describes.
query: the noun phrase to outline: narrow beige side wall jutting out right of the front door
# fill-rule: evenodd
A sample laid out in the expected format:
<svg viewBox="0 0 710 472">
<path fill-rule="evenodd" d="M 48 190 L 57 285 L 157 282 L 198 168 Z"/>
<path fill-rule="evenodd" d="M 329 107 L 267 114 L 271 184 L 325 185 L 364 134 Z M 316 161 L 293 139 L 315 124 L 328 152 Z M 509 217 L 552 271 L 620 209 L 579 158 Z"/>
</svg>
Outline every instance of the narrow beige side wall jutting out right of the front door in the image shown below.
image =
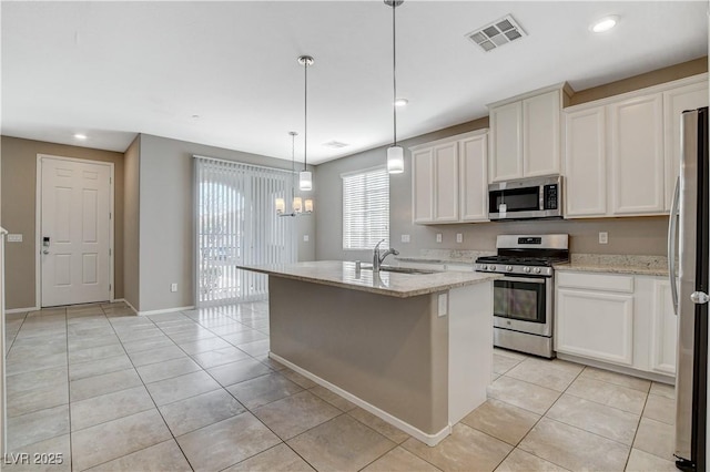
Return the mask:
<svg viewBox="0 0 710 472">
<path fill-rule="evenodd" d="M 123 215 L 123 298 L 133 307 L 139 305 L 140 285 L 138 278 L 140 264 L 140 146 L 141 136 L 136 136 L 124 157 L 124 215 Z"/>
</svg>

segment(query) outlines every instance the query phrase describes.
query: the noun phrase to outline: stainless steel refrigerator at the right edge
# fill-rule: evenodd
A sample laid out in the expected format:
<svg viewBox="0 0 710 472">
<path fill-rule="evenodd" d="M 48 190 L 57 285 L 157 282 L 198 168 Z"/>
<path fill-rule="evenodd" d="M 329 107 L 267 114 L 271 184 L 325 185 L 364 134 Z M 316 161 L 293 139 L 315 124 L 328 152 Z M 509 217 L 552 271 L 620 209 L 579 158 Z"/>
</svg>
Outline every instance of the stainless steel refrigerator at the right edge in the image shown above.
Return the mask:
<svg viewBox="0 0 710 472">
<path fill-rule="evenodd" d="M 669 277 L 678 315 L 676 466 L 704 471 L 710 300 L 708 107 L 683 112 L 681 134 L 680 176 L 668 232 Z"/>
</svg>

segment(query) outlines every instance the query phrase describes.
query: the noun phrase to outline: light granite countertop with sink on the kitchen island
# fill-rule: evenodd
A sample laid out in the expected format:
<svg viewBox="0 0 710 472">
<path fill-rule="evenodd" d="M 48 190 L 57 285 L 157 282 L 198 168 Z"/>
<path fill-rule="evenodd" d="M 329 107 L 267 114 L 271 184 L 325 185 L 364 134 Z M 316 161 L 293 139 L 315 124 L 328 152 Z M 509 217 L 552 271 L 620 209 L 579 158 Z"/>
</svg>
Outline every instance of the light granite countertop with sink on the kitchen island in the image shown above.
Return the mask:
<svg viewBox="0 0 710 472">
<path fill-rule="evenodd" d="M 312 281 L 314 284 L 369 291 L 399 298 L 433 294 L 501 277 L 497 274 L 481 273 L 437 271 L 434 274 L 399 274 L 385 270 L 381 270 L 378 275 L 375 274 L 373 276 L 372 269 L 363 268 L 359 274 L 356 274 L 355 263 L 342 260 L 236 267 L 294 280 Z"/>
</svg>

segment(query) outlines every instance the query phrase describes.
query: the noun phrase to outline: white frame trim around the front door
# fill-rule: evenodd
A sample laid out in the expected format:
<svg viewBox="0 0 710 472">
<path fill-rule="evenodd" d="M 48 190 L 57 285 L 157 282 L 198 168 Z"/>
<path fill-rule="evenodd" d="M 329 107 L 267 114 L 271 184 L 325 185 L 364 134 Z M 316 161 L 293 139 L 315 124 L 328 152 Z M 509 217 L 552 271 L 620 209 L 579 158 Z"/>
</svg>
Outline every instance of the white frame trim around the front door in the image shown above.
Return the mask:
<svg viewBox="0 0 710 472">
<path fill-rule="evenodd" d="M 40 254 L 42 253 L 42 157 L 77 162 L 82 164 L 98 164 L 106 165 L 110 171 L 109 179 L 109 212 L 111 218 L 109 222 L 109 301 L 114 301 L 115 280 L 113 279 L 115 265 L 113 258 L 115 255 L 114 248 L 114 232 L 115 232 L 115 177 L 114 177 L 114 164 L 106 161 L 93 161 L 88 158 L 65 157 L 57 156 L 52 154 L 37 154 L 37 188 L 34 192 L 34 305 L 37 309 L 42 308 L 42 264 Z"/>
</svg>

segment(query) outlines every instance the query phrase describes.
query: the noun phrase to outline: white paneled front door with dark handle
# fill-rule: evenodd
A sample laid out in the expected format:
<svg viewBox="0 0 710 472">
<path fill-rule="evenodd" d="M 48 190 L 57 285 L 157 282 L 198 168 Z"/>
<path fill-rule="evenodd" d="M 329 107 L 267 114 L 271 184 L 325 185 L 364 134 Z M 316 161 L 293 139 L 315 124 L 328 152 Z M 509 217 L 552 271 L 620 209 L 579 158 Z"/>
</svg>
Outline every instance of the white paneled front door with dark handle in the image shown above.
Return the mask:
<svg viewBox="0 0 710 472">
<path fill-rule="evenodd" d="M 42 307 L 111 299 L 112 165 L 41 156 Z"/>
</svg>

